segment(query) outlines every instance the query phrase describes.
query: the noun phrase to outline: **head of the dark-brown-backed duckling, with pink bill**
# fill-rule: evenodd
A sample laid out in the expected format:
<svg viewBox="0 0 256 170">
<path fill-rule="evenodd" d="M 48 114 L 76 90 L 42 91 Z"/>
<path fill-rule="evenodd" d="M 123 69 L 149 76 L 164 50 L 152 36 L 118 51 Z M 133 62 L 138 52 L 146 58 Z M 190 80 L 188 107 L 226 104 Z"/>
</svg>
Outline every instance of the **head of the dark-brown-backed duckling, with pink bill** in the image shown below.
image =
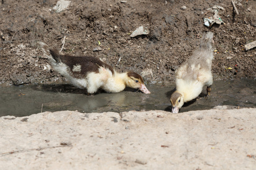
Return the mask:
<svg viewBox="0 0 256 170">
<path fill-rule="evenodd" d="M 144 94 L 150 94 L 150 91 L 147 90 L 141 75 L 137 73 L 128 72 L 125 82 L 126 86 L 128 87 L 139 88 L 139 90 L 141 90 Z"/>
</svg>

